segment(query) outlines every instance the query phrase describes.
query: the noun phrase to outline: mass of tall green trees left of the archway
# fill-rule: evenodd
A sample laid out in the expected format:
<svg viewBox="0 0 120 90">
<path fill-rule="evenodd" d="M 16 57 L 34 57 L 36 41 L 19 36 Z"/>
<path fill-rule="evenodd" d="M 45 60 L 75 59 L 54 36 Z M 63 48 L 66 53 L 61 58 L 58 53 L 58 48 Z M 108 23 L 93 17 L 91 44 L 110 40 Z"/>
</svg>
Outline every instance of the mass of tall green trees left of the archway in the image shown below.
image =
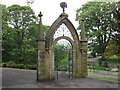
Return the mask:
<svg viewBox="0 0 120 90">
<path fill-rule="evenodd" d="M 38 21 L 29 6 L 12 5 L 2 7 L 3 62 L 22 64 L 36 63 Z M 43 26 L 45 33 L 49 26 Z"/>
</svg>

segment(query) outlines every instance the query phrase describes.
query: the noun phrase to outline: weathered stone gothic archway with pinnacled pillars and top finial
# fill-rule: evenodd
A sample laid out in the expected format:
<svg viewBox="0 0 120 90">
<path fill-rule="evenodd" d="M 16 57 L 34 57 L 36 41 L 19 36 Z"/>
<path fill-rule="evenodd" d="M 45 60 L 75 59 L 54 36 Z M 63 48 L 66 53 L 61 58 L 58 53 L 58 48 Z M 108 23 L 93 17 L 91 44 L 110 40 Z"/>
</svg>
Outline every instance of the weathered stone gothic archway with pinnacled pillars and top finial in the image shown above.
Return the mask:
<svg viewBox="0 0 120 90">
<path fill-rule="evenodd" d="M 85 35 L 84 24 L 81 30 L 81 36 L 68 19 L 65 13 L 66 3 L 62 2 L 63 13 L 51 25 L 48 33 L 44 36 L 42 28 L 42 14 L 39 14 L 39 33 L 38 33 L 38 60 L 37 60 L 37 80 L 52 80 L 54 76 L 54 51 L 53 45 L 57 40 L 66 39 L 73 45 L 73 78 L 80 78 L 87 76 L 87 40 Z M 64 24 L 70 31 L 73 38 L 61 36 L 54 40 L 54 34 L 60 25 Z"/>
</svg>

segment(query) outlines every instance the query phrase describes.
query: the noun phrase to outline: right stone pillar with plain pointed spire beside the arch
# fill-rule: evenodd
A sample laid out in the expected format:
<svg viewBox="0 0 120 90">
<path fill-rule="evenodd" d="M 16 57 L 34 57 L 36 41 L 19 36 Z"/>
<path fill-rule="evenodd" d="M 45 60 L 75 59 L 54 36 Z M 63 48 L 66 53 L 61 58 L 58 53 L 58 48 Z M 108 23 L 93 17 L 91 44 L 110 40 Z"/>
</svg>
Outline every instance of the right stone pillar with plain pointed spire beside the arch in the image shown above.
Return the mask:
<svg viewBox="0 0 120 90">
<path fill-rule="evenodd" d="M 81 30 L 81 39 L 80 39 L 80 53 L 81 53 L 81 77 L 86 77 L 87 73 L 87 39 L 85 32 L 84 21 L 82 22 Z"/>
</svg>

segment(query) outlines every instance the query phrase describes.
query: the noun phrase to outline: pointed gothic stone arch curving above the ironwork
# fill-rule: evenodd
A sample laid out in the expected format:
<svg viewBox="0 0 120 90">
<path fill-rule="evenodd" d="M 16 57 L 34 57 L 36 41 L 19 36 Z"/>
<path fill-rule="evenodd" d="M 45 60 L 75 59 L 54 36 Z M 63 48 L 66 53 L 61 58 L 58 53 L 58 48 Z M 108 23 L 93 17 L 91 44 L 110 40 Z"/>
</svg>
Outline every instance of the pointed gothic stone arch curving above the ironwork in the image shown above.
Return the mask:
<svg viewBox="0 0 120 90">
<path fill-rule="evenodd" d="M 78 34 L 77 34 L 77 31 L 76 31 L 74 25 L 73 25 L 73 24 L 71 23 L 71 21 L 68 19 L 68 15 L 65 14 L 65 13 L 62 13 L 62 14 L 59 16 L 59 18 L 56 19 L 55 22 L 51 25 L 51 27 L 50 27 L 47 35 L 46 35 L 46 42 L 48 43 L 48 44 L 47 44 L 47 47 L 48 47 L 48 48 L 50 47 L 50 45 L 52 45 L 53 35 L 55 34 L 56 30 L 58 29 L 58 27 L 59 27 L 62 23 L 64 23 L 64 24 L 68 27 L 70 33 L 72 34 L 73 39 L 75 40 L 74 42 L 75 42 L 76 44 L 79 44 L 79 36 L 78 36 Z"/>
</svg>

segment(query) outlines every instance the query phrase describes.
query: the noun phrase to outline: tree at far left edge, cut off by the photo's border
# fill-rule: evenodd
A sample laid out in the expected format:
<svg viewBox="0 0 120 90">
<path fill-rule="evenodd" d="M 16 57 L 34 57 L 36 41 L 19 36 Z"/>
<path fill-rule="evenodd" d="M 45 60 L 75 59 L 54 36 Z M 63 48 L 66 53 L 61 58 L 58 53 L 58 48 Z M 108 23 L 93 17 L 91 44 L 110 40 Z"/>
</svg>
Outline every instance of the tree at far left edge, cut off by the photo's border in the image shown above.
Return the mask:
<svg viewBox="0 0 120 90">
<path fill-rule="evenodd" d="M 1 29 L 2 29 L 2 52 L 5 53 L 5 54 L 2 54 L 3 56 L 3 61 L 6 61 L 8 59 L 11 59 L 10 58 L 10 51 L 11 51 L 11 48 L 8 44 L 11 45 L 11 38 L 10 38 L 10 30 L 11 28 L 8 26 L 8 19 L 9 19 L 9 13 L 8 13 L 8 10 L 7 10 L 7 7 L 5 5 L 2 5 L 0 4 L 0 9 L 1 9 Z"/>
</svg>

